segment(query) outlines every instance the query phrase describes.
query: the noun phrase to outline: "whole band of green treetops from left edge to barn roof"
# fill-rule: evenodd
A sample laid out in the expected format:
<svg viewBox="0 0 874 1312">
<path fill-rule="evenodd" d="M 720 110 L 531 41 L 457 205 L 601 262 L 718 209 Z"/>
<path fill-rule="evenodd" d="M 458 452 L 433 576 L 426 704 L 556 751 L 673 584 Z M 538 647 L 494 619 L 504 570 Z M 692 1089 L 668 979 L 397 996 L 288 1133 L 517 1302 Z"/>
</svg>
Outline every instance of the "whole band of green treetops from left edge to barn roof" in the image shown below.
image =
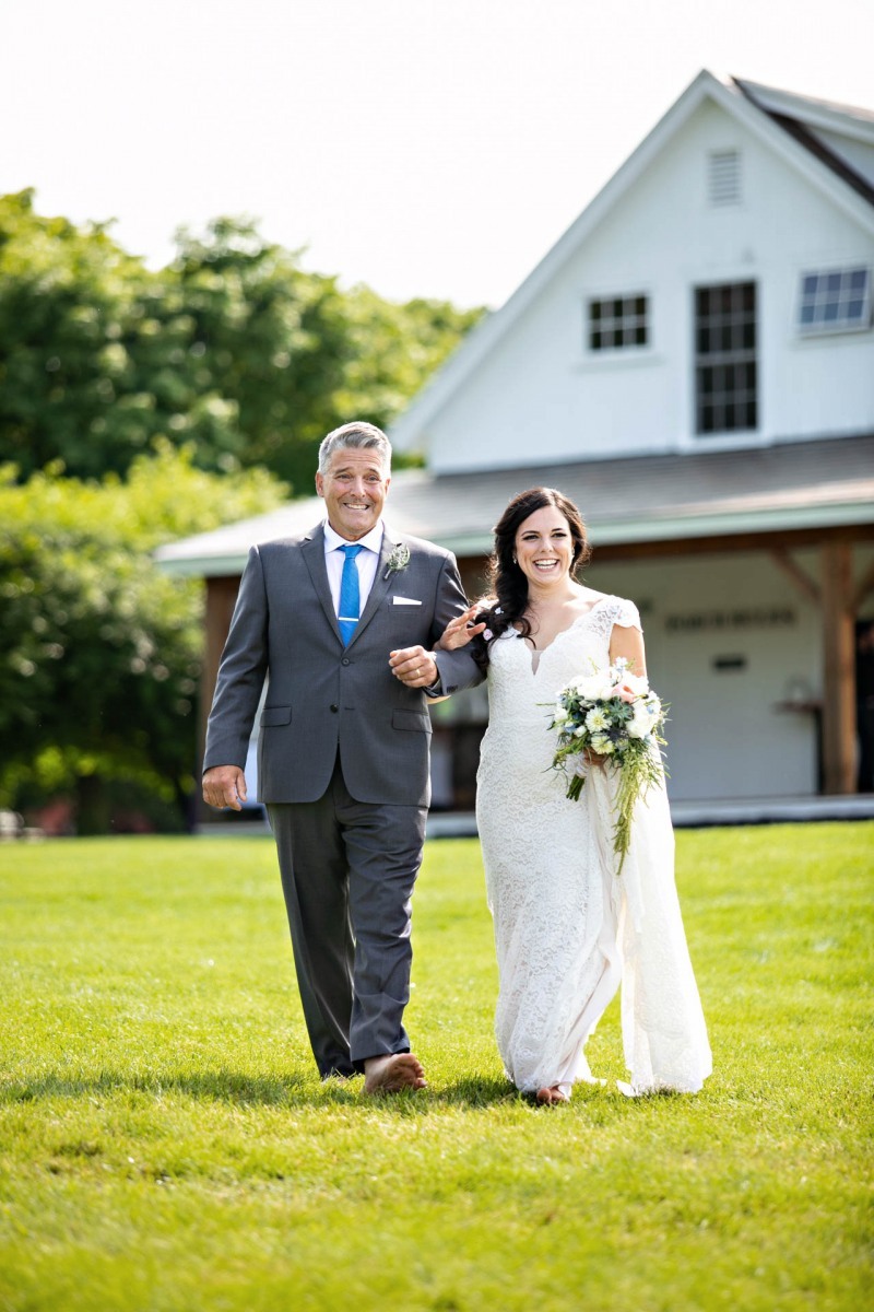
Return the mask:
<svg viewBox="0 0 874 1312">
<path fill-rule="evenodd" d="M 0 199 L 0 461 L 20 476 L 123 474 L 162 437 L 308 492 L 321 437 L 389 424 L 481 314 L 342 291 L 248 220 L 177 245 L 155 273 L 106 226 Z"/>
</svg>

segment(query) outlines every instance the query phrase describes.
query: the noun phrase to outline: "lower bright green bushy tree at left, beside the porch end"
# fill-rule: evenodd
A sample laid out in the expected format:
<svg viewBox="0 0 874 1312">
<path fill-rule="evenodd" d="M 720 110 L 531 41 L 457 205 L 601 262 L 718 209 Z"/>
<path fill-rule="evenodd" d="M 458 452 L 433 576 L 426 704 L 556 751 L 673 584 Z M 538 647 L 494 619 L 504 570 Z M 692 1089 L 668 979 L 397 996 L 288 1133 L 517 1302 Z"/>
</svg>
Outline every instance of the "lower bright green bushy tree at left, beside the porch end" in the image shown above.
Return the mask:
<svg viewBox="0 0 874 1312">
<path fill-rule="evenodd" d="M 106 782 L 182 807 L 193 787 L 202 586 L 168 579 L 151 550 L 261 513 L 286 488 L 227 479 L 165 445 L 127 483 L 59 470 L 0 479 L 0 804 L 75 791 L 80 832 L 106 827 Z"/>
</svg>

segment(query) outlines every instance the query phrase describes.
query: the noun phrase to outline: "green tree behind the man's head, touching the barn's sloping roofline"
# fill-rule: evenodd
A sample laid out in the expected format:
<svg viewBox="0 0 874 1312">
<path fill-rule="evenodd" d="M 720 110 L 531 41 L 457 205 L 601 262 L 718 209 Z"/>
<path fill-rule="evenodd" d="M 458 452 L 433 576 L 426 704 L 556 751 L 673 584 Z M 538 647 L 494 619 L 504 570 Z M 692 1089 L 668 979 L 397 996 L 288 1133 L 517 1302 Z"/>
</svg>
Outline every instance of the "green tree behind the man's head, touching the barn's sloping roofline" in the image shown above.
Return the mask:
<svg viewBox="0 0 874 1312">
<path fill-rule="evenodd" d="M 321 438 L 350 419 L 388 426 L 481 318 L 444 300 L 384 300 L 307 273 L 246 220 L 178 234 L 174 270 L 204 363 L 237 405 L 244 464 L 308 493 Z"/>
</svg>

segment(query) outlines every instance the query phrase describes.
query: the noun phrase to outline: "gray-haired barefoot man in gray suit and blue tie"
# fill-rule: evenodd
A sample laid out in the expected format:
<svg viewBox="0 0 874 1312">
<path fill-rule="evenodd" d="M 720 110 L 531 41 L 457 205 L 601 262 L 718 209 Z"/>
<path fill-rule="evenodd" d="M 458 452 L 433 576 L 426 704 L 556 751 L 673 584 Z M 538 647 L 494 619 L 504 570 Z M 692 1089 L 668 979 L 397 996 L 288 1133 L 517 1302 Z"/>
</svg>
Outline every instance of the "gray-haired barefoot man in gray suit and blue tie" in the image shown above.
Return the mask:
<svg viewBox="0 0 874 1312">
<path fill-rule="evenodd" d="M 326 520 L 249 552 L 207 728 L 203 796 L 246 796 L 261 690 L 259 796 L 276 840 L 300 997 L 324 1078 L 425 1086 L 404 1008 L 410 900 L 430 800 L 427 695 L 477 677 L 432 648 L 466 602 L 455 558 L 383 521 L 390 446 L 371 424 L 329 433 Z"/>
</svg>

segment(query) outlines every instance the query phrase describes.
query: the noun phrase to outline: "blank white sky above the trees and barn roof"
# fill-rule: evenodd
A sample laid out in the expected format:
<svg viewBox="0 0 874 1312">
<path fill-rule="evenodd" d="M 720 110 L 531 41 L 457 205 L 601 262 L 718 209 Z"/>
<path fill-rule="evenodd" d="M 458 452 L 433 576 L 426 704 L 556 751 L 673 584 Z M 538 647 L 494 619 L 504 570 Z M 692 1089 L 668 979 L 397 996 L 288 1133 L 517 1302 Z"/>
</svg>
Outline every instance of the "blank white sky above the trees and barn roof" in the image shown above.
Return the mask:
<svg viewBox="0 0 874 1312">
<path fill-rule="evenodd" d="M 0 193 L 497 306 L 702 67 L 874 109 L 874 0 L 0 0 Z"/>
</svg>

